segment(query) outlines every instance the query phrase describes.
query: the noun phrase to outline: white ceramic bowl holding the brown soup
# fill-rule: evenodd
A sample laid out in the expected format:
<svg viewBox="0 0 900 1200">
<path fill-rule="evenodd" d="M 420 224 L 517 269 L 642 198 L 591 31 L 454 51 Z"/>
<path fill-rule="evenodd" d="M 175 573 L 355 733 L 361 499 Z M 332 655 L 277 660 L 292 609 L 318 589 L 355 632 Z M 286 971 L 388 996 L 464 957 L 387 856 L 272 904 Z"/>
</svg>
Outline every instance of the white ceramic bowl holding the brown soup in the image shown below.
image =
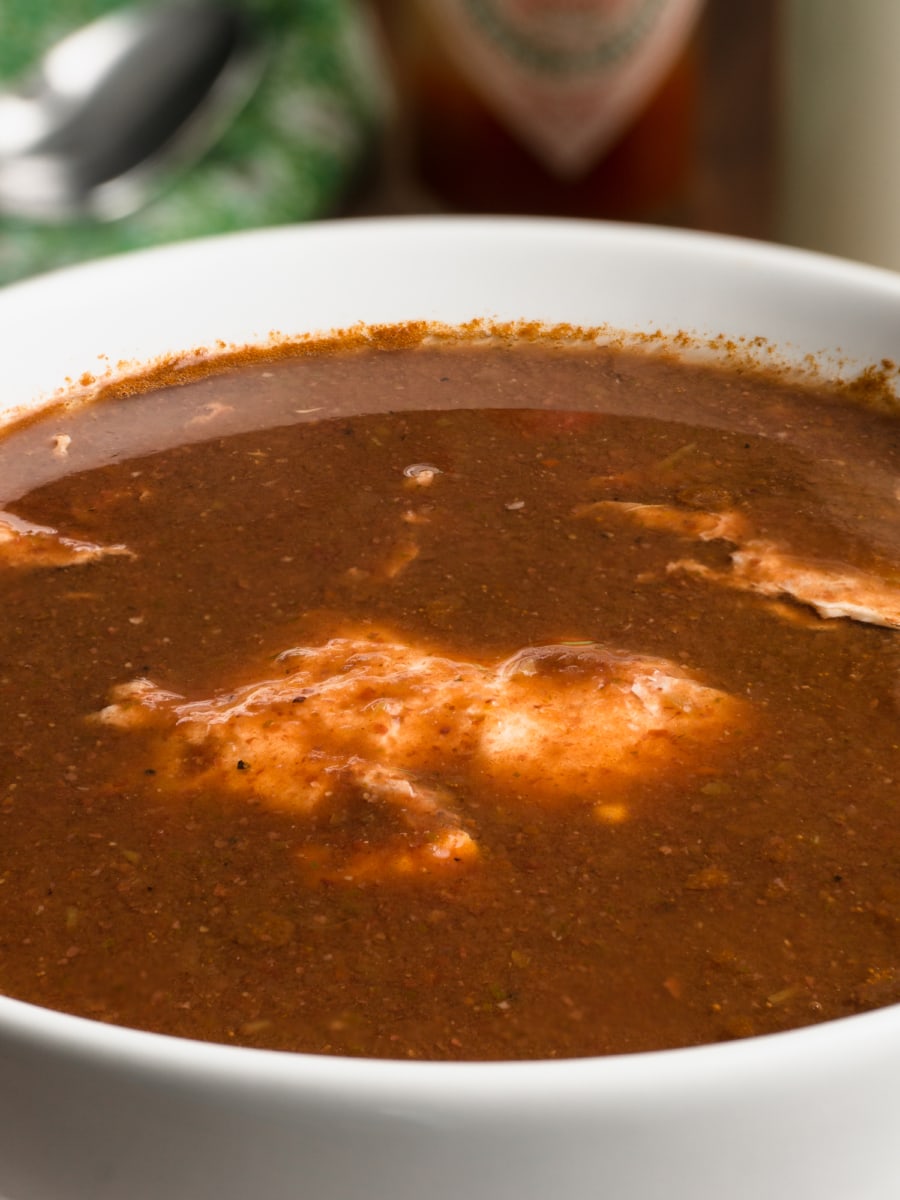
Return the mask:
<svg viewBox="0 0 900 1200">
<path fill-rule="evenodd" d="M 473 317 L 762 336 L 826 373 L 900 356 L 900 277 L 869 268 L 624 226 L 350 222 L 0 292 L 0 413 L 166 353 Z M 900 1008 L 700 1049 L 457 1064 L 198 1044 L 0 998 L 8 1200 L 896 1200 L 899 1129 Z"/>
</svg>

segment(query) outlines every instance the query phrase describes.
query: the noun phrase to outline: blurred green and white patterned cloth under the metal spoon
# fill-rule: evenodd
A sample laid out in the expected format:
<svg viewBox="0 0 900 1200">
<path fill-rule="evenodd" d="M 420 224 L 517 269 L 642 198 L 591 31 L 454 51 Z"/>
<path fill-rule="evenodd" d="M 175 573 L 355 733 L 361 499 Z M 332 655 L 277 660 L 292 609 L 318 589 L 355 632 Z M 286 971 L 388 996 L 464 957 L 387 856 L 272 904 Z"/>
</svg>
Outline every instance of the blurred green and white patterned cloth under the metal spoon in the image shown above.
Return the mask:
<svg viewBox="0 0 900 1200">
<path fill-rule="evenodd" d="M 0 84 L 122 0 L 6 0 Z M 152 2 L 152 0 L 151 0 Z M 361 0 L 244 0 L 269 35 L 257 90 L 206 156 L 137 214 L 40 224 L 0 217 L 0 284 L 86 258 L 338 210 L 368 162 L 385 112 Z"/>
</svg>

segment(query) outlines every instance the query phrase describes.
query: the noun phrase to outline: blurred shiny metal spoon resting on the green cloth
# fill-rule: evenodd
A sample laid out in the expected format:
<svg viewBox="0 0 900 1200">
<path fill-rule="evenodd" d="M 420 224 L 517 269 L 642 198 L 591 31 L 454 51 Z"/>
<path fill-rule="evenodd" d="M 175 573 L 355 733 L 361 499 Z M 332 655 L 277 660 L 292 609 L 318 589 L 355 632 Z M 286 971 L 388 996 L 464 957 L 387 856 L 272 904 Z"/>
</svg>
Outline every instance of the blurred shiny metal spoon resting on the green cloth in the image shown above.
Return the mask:
<svg viewBox="0 0 900 1200">
<path fill-rule="evenodd" d="M 252 94 L 262 46 L 215 0 L 125 8 L 0 92 L 0 215 L 114 220 L 202 157 Z"/>
</svg>

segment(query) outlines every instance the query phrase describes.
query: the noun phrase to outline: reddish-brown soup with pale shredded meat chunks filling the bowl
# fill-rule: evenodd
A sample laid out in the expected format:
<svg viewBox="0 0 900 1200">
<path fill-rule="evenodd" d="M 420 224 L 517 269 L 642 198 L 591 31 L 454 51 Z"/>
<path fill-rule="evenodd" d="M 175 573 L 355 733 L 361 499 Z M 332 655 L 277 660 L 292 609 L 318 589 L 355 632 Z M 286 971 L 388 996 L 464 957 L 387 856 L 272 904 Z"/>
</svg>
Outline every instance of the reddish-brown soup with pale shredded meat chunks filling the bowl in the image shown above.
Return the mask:
<svg viewBox="0 0 900 1200">
<path fill-rule="evenodd" d="M 348 347 L 0 443 L 0 989 L 416 1058 L 900 1000 L 898 421 Z"/>
</svg>

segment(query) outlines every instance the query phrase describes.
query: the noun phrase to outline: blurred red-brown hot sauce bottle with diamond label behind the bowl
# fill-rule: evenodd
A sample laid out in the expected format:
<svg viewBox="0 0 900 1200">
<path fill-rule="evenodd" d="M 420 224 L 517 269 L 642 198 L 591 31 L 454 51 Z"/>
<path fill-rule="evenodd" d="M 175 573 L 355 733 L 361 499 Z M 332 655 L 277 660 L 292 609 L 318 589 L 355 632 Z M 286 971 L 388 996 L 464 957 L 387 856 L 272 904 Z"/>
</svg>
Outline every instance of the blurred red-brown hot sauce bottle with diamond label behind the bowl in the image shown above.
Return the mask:
<svg viewBox="0 0 900 1200">
<path fill-rule="evenodd" d="M 418 181 L 451 210 L 683 221 L 700 8 L 383 4 Z"/>
</svg>

